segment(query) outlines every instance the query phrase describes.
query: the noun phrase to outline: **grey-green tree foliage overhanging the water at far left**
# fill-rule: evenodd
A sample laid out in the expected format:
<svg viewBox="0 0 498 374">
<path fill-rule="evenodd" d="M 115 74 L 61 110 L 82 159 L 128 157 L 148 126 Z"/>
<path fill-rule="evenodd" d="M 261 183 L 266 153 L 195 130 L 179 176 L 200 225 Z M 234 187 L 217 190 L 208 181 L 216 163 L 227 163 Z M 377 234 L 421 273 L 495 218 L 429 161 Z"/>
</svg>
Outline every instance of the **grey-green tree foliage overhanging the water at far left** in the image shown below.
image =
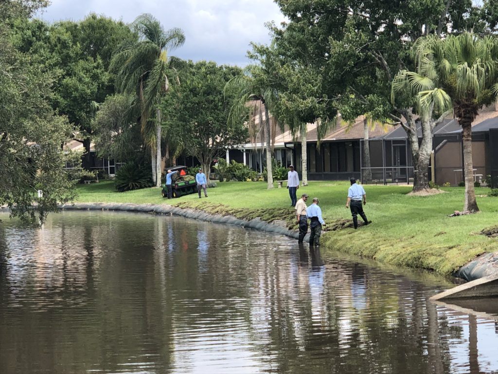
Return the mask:
<svg viewBox="0 0 498 374">
<path fill-rule="evenodd" d="M 74 129 L 50 106 L 54 77 L 19 52 L 11 43 L 12 29 L 4 27 L 42 5 L 45 1 L 0 4 L 0 205 L 30 222 L 43 221 L 57 203 L 74 197 L 65 166 L 77 167 L 79 157 L 62 149 Z"/>
</svg>

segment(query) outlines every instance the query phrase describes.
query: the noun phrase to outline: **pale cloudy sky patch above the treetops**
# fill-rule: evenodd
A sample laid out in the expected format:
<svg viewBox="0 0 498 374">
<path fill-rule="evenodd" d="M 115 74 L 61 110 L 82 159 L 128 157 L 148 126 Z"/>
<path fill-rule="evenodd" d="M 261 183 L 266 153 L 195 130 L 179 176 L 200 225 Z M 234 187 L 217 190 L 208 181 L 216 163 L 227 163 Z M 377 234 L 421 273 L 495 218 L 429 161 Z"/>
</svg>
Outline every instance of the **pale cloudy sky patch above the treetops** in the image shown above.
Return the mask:
<svg viewBox="0 0 498 374">
<path fill-rule="evenodd" d="M 165 29 L 180 27 L 185 44 L 172 55 L 245 66 L 249 42 L 269 43 L 265 22 L 284 20 L 273 0 L 51 0 L 39 18 L 81 20 L 90 12 L 132 22 L 151 13 Z"/>
</svg>

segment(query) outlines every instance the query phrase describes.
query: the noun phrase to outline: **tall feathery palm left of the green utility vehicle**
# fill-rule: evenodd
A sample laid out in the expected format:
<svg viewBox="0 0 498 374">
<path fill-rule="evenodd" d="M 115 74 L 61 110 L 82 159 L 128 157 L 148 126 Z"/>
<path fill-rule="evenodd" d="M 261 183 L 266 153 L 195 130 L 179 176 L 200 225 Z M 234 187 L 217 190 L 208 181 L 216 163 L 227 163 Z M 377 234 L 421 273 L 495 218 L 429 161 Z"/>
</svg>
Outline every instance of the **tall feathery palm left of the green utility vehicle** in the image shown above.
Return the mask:
<svg viewBox="0 0 498 374">
<path fill-rule="evenodd" d="M 132 23 L 139 39 L 122 44 L 111 61 L 121 92 L 137 92 L 140 125 L 145 144 L 150 148 L 152 179 L 161 186 L 161 120 L 158 103 L 169 89 L 168 50 L 185 42 L 180 28 L 164 30 L 151 14 L 141 14 Z"/>
</svg>

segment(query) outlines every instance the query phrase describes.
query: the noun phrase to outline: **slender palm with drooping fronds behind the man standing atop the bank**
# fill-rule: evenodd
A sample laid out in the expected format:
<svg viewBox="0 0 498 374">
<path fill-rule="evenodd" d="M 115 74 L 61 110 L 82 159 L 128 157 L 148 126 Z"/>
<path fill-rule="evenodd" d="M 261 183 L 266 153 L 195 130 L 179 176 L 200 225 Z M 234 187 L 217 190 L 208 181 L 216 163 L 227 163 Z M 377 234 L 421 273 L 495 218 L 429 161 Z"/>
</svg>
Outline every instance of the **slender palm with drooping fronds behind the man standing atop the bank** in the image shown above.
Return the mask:
<svg viewBox="0 0 498 374">
<path fill-rule="evenodd" d="M 264 144 L 266 149 L 266 171 L 267 187 L 273 188 L 273 172 L 271 166 L 271 131 L 270 115 L 268 107 L 272 105 L 275 92 L 264 83 L 262 71 L 259 66 L 249 65 L 243 73 L 232 78 L 225 86 L 225 91 L 234 90 L 236 92 L 234 102 L 229 114 L 229 121 L 241 121 L 249 115 L 249 126 L 258 111 L 259 126 L 263 127 Z M 252 105 L 248 105 L 252 103 Z M 262 123 L 262 108 L 264 108 L 264 124 Z M 273 132 L 273 134 L 275 134 Z"/>
</svg>

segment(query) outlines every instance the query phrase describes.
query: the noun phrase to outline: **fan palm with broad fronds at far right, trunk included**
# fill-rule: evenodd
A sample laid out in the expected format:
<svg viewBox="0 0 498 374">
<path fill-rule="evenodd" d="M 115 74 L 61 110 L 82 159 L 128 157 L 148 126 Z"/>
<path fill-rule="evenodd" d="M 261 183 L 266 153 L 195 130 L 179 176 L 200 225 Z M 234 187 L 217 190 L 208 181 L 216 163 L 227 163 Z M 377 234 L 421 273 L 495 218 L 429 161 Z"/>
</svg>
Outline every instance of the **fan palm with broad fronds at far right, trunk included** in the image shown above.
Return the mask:
<svg viewBox="0 0 498 374">
<path fill-rule="evenodd" d="M 462 126 L 464 149 L 464 211 L 477 212 L 472 164 L 472 122 L 479 108 L 498 93 L 498 43 L 472 33 L 428 36 L 414 45 L 417 72 L 403 70 L 393 87 L 405 85 L 416 93 L 422 116 L 453 108 Z M 393 88 L 394 89 L 394 88 Z"/>
</svg>

